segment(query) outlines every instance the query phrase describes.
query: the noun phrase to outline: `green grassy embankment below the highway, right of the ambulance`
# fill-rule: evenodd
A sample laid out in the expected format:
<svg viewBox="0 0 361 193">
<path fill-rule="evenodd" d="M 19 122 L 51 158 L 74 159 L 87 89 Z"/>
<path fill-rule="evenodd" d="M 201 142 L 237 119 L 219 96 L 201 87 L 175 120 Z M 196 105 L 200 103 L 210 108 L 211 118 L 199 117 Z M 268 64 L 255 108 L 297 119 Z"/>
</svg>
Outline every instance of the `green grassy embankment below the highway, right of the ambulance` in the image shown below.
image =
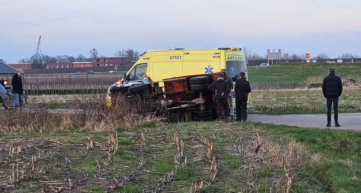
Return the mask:
<svg viewBox="0 0 361 193">
<path fill-rule="evenodd" d="M 343 80 L 361 80 L 361 64 L 346 63 L 276 63 L 265 68 L 248 68 L 251 82 L 322 83 L 329 67 Z M 321 80 L 321 82 L 320 82 Z M 316 82 L 315 82 L 316 81 Z"/>
</svg>

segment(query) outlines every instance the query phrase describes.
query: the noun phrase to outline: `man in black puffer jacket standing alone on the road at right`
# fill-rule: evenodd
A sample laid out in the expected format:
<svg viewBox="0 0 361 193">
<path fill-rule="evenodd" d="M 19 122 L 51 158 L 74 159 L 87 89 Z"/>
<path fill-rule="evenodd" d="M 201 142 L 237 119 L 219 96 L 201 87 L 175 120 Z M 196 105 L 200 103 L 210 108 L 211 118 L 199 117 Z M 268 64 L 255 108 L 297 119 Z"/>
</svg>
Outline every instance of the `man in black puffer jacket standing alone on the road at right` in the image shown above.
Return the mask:
<svg viewBox="0 0 361 193">
<path fill-rule="evenodd" d="M 342 94 L 342 80 L 340 77 L 335 75 L 335 68 L 329 68 L 329 76 L 323 78 L 322 82 L 322 93 L 326 98 L 327 103 L 327 125 L 331 126 L 331 107 L 332 102 L 334 103 L 334 119 L 335 126 L 338 127 L 340 124 L 338 123 L 338 101 L 339 97 Z"/>
</svg>

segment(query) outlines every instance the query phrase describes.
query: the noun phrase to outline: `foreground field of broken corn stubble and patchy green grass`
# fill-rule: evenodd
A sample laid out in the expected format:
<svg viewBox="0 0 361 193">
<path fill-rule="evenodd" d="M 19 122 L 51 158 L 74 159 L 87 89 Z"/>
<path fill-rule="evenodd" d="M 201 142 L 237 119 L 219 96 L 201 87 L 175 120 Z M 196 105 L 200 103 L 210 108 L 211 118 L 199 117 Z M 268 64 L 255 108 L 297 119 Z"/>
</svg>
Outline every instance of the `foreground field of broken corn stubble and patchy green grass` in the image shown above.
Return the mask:
<svg viewBox="0 0 361 193">
<path fill-rule="evenodd" d="M 1 192 L 201 192 L 195 183 L 204 193 L 280 193 L 287 183 L 291 193 L 361 189 L 359 132 L 219 122 L 116 131 L 2 134 Z"/>
</svg>

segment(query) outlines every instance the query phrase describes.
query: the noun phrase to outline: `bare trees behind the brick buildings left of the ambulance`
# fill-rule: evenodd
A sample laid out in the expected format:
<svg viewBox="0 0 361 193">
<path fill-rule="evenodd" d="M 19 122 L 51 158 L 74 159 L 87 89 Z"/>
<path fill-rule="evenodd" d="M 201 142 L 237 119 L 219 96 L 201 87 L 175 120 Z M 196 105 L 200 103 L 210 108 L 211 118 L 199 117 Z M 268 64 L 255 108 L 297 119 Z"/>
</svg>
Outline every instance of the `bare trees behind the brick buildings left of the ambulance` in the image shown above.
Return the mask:
<svg viewBox="0 0 361 193">
<path fill-rule="evenodd" d="M 68 55 L 49 56 L 49 55 L 39 54 L 38 56 L 36 56 L 36 54 L 34 54 L 29 58 L 19 60 L 18 63 L 39 63 L 45 65 L 47 63 L 91 62 L 92 58 L 105 57 L 104 55 L 99 56 L 96 48 L 89 50 L 89 53 L 90 56 L 84 56 L 82 54 L 79 54 L 78 56 L 68 56 Z M 140 53 L 138 51 L 134 51 L 133 49 L 127 49 L 127 50 L 123 49 L 115 52 L 114 56 L 129 57 L 131 61 L 135 61 L 138 60 Z"/>
</svg>

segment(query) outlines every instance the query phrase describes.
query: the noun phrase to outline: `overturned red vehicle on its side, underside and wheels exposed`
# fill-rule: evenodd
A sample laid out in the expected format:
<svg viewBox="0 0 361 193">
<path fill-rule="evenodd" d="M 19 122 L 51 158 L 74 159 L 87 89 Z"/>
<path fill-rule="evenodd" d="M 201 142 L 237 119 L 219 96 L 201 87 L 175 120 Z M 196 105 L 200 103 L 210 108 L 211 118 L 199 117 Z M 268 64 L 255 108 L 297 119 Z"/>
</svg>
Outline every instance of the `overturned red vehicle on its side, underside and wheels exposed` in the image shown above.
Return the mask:
<svg viewBox="0 0 361 193">
<path fill-rule="evenodd" d="M 212 121 L 217 119 L 217 106 L 214 93 L 208 90 L 208 86 L 217 78 L 218 73 L 199 74 L 150 83 L 152 81 L 149 77 L 148 82 L 113 86 L 110 88 L 110 94 L 112 97 L 117 93 L 141 95 L 144 100 L 152 100 L 152 108 L 159 115 L 166 115 L 171 123 Z M 159 86 L 160 82 L 164 83 L 164 87 Z M 222 110 L 222 116 L 224 115 Z"/>
</svg>

